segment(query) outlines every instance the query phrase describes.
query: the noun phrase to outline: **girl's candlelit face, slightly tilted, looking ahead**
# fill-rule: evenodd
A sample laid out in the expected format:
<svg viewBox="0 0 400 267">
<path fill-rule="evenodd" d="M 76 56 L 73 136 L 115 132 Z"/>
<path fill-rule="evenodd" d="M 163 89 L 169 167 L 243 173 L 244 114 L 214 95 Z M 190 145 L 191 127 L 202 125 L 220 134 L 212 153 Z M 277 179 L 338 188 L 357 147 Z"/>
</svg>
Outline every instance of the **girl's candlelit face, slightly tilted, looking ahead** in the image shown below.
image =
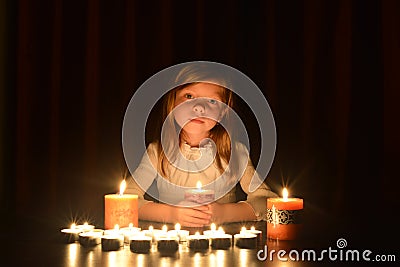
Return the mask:
<svg viewBox="0 0 400 267">
<path fill-rule="evenodd" d="M 195 83 L 176 93 L 174 118 L 186 134 L 208 135 L 222 117 L 223 88 L 211 83 Z"/>
</svg>

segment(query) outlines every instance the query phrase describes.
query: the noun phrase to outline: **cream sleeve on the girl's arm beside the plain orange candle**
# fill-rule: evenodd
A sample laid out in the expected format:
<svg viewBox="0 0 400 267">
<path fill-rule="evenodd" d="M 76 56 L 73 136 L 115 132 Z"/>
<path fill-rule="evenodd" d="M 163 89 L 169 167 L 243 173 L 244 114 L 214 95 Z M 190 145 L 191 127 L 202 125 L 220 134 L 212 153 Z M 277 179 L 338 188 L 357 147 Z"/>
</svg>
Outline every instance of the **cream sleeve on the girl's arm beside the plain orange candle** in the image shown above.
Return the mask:
<svg viewBox="0 0 400 267">
<path fill-rule="evenodd" d="M 158 173 L 156 169 L 156 162 L 156 146 L 155 144 L 150 144 L 146 150 L 146 153 L 144 153 L 139 166 L 129 179 L 126 192 L 138 196 L 139 209 L 144 204 L 151 202 L 144 199 L 144 194 L 146 193 L 147 189 L 149 189 L 153 181 L 157 178 Z"/>
</svg>

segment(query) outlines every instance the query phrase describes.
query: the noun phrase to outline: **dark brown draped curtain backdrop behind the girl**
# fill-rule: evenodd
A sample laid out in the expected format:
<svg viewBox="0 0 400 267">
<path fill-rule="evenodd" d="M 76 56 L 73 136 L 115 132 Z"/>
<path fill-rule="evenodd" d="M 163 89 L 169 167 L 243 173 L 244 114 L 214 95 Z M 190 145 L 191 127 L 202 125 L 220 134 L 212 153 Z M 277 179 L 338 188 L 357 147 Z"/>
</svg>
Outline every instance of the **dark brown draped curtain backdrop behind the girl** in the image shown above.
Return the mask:
<svg viewBox="0 0 400 267">
<path fill-rule="evenodd" d="M 371 236 L 386 240 L 398 233 L 385 229 L 399 208 L 399 11 L 364 0 L 1 1 L 2 224 L 101 226 L 103 196 L 127 175 L 121 127 L 135 90 L 207 60 L 249 76 L 271 106 L 267 183 L 337 221 L 333 233 L 379 228 Z"/>
</svg>

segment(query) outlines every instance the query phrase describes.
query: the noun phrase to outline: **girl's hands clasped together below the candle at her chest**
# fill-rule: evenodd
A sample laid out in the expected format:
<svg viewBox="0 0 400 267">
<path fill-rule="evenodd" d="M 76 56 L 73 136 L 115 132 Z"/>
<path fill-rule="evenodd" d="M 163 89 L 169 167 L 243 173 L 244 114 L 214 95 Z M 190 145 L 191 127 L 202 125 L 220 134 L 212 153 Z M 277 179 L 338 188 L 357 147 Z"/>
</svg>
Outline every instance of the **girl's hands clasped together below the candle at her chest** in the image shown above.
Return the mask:
<svg viewBox="0 0 400 267">
<path fill-rule="evenodd" d="M 179 204 L 185 204 L 181 202 Z M 182 226 L 203 227 L 210 224 L 211 214 L 209 205 L 197 207 L 179 207 L 174 209 L 174 217 Z"/>
</svg>

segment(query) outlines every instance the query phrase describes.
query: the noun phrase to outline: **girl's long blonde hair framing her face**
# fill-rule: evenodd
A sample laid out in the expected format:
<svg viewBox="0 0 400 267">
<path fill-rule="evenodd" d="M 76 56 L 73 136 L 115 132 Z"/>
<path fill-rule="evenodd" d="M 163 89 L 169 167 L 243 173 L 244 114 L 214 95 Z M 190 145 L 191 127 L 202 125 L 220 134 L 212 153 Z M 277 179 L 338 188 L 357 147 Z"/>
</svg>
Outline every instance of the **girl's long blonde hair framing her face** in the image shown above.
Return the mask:
<svg viewBox="0 0 400 267">
<path fill-rule="evenodd" d="M 210 73 L 207 68 L 201 65 L 190 65 L 183 68 L 177 75 L 175 82 L 179 85 L 164 95 L 163 102 L 162 121 L 165 124 L 168 124 L 165 129 L 169 130 L 162 133 L 163 136 L 161 139 L 163 142 L 161 142 L 161 140 L 158 140 L 157 142 L 157 150 L 159 155 L 157 168 L 159 173 L 164 177 L 168 176 L 168 166 L 170 165 L 169 160 L 174 160 L 174 157 L 176 157 L 180 147 L 180 138 L 176 138 L 176 136 L 179 134 L 179 127 L 176 125 L 173 116 L 169 116 L 175 107 L 175 98 L 177 92 L 196 83 L 216 84 L 223 89 L 221 95 L 222 102 L 229 108 L 233 108 L 233 92 L 227 88 L 227 86 L 229 86 L 228 80 L 215 75 L 215 73 Z M 223 169 L 222 162 L 224 161 L 226 164 L 228 164 L 231 160 L 231 137 L 227 129 L 224 128 L 224 126 L 228 128 L 231 126 L 229 108 L 224 111 L 221 124 L 217 123 L 210 130 L 209 136 L 209 138 L 211 138 L 216 144 L 217 151 L 215 156 L 215 164 L 221 173 L 225 171 Z M 222 124 L 224 126 L 222 126 Z M 172 155 L 173 158 L 168 158 L 167 155 Z"/>
</svg>

